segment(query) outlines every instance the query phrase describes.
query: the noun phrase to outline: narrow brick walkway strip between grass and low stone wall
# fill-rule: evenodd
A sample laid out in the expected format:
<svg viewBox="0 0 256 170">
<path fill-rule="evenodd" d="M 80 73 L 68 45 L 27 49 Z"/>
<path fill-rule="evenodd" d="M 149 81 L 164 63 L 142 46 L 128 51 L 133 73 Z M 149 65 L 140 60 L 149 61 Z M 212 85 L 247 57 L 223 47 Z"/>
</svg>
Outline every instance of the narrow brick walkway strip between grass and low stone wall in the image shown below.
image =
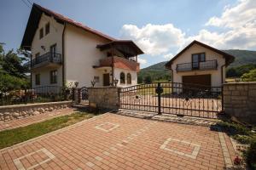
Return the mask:
<svg viewBox="0 0 256 170">
<path fill-rule="evenodd" d="M 27 117 L 16 119 L 9 122 L 0 122 L 0 131 L 16 128 L 16 127 L 25 127 L 32 123 L 43 122 L 45 120 L 51 119 L 56 116 L 65 116 L 73 113 L 73 111 L 74 111 L 73 108 L 66 108 L 58 111 L 50 111 L 37 116 L 27 116 Z"/>
</svg>

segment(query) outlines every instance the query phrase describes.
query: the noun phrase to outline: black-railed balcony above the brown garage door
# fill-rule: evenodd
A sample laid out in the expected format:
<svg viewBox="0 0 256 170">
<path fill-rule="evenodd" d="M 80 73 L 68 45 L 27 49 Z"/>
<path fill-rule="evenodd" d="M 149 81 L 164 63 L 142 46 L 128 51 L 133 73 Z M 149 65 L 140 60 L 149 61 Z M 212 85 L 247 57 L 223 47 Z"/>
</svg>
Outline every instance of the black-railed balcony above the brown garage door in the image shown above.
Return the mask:
<svg viewBox="0 0 256 170">
<path fill-rule="evenodd" d="M 218 62 L 217 59 L 207 60 L 204 62 L 193 62 L 193 63 L 183 63 L 177 64 L 176 71 L 209 71 L 209 70 L 217 70 Z"/>
</svg>

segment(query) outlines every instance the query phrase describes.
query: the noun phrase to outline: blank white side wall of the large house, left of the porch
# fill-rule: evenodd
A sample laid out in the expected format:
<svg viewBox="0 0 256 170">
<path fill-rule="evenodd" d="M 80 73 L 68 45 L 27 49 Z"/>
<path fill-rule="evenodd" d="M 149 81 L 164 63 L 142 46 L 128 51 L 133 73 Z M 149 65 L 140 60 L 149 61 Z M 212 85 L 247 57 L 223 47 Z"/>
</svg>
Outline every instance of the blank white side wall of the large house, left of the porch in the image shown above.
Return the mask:
<svg viewBox="0 0 256 170">
<path fill-rule="evenodd" d="M 67 25 L 64 38 L 64 75 L 67 83 L 79 82 L 79 87 L 90 87 L 96 76 L 100 77 L 100 82 L 96 83 L 96 86 L 102 86 L 102 71 L 92 66 L 99 65 L 99 59 L 106 58 L 107 54 L 96 48 L 96 45 L 106 43 L 108 40 L 71 25 Z"/>
</svg>

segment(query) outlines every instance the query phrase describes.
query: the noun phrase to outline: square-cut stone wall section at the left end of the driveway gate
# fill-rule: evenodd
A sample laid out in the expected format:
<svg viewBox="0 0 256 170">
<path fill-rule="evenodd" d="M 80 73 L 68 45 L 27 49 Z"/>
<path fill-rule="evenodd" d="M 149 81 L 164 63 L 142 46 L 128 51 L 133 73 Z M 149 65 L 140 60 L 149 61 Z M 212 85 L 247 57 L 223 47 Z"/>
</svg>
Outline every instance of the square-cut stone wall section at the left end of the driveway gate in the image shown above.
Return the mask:
<svg viewBox="0 0 256 170">
<path fill-rule="evenodd" d="M 119 88 L 88 88 L 89 105 L 100 109 L 119 108 Z"/>
</svg>

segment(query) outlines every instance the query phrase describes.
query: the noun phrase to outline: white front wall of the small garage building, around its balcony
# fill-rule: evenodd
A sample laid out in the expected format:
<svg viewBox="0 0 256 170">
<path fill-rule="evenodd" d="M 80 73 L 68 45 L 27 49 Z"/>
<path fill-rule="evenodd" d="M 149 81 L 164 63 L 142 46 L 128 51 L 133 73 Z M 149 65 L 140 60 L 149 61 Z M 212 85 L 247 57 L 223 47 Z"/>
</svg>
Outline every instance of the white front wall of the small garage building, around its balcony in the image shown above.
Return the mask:
<svg viewBox="0 0 256 170">
<path fill-rule="evenodd" d="M 191 63 L 192 62 L 192 54 L 198 53 L 205 53 L 206 60 L 217 59 L 218 61 L 218 69 L 212 71 L 184 71 L 184 72 L 177 72 L 177 64 L 182 63 Z M 173 78 L 172 82 L 182 82 L 183 76 L 193 76 L 193 75 L 211 75 L 211 85 L 214 87 L 218 87 L 222 85 L 221 81 L 221 66 L 225 64 L 225 59 L 223 55 L 218 54 L 208 48 L 204 48 L 200 45 L 194 44 L 189 49 L 187 49 L 183 54 L 177 57 L 174 61 L 172 61 L 172 71 L 173 71 Z M 224 71 L 225 72 L 225 71 Z M 223 75 L 225 73 L 223 72 Z M 224 76 L 225 78 L 225 76 Z"/>
</svg>

